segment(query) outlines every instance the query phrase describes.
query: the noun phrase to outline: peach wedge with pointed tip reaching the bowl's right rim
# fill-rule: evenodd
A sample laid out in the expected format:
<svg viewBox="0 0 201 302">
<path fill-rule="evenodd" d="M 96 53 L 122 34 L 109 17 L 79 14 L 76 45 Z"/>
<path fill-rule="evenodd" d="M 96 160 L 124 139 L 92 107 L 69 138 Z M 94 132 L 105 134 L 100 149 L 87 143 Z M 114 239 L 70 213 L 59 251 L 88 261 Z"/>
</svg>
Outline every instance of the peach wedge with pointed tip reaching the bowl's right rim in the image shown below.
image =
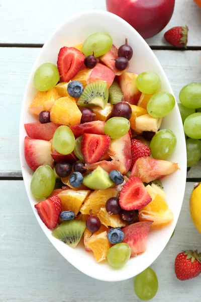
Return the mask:
<svg viewBox="0 0 201 302">
<path fill-rule="evenodd" d="M 149 156 L 138 159 L 133 166 L 130 178 L 137 176 L 142 182 L 161 179 L 162 177 L 174 173 L 178 170 L 178 164 L 168 161 L 155 160 Z"/>
</svg>

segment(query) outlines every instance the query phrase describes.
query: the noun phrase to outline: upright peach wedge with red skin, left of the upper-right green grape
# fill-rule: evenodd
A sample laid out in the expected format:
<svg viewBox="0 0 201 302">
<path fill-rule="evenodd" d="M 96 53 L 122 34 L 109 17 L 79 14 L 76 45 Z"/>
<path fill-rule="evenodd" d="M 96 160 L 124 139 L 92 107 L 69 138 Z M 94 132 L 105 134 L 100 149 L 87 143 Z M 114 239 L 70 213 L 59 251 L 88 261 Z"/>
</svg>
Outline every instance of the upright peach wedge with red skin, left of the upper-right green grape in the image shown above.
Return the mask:
<svg viewBox="0 0 201 302">
<path fill-rule="evenodd" d="M 136 105 L 138 103 L 141 96 L 141 92 L 137 89 L 136 86 L 137 77 L 138 74 L 127 71 L 120 75 L 120 77 L 118 77 L 121 90 L 124 94 L 125 102 L 133 105 Z"/>
</svg>

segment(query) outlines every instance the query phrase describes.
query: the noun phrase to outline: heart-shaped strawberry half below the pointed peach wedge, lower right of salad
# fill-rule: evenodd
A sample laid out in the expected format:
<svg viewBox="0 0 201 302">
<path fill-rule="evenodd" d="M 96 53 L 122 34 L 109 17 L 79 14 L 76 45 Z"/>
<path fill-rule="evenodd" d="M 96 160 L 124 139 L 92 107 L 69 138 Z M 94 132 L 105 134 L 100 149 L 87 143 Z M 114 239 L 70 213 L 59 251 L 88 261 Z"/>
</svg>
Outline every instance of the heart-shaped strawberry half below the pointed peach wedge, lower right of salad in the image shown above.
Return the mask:
<svg viewBox="0 0 201 302">
<path fill-rule="evenodd" d="M 119 203 L 122 209 L 130 211 L 142 209 L 151 200 L 152 198 L 141 179 L 139 177 L 132 177 L 123 186 Z"/>
</svg>

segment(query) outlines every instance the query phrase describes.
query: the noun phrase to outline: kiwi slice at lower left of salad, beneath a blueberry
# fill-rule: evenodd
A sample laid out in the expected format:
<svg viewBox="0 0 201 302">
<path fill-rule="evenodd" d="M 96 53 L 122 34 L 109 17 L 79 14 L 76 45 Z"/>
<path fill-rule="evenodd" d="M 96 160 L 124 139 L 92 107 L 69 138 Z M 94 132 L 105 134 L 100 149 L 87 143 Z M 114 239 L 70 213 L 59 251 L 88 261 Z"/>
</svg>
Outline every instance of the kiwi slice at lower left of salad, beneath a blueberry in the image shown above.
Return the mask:
<svg viewBox="0 0 201 302">
<path fill-rule="evenodd" d="M 52 235 L 74 249 L 79 243 L 85 228 L 86 223 L 81 220 L 63 221 L 54 229 Z"/>
</svg>

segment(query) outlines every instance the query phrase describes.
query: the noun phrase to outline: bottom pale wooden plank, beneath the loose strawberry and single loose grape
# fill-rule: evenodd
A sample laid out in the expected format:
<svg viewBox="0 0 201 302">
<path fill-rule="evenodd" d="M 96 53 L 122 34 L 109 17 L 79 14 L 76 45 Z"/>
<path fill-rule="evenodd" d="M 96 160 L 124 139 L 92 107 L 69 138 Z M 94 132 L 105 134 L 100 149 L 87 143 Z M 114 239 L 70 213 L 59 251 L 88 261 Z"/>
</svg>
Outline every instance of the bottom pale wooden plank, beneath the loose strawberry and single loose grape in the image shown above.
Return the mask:
<svg viewBox="0 0 201 302">
<path fill-rule="evenodd" d="M 187 183 L 175 234 L 152 265 L 159 280 L 153 302 L 200 301 L 199 277 L 181 282 L 174 274 L 174 259 L 180 251 L 201 250 L 200 234 L 188 209 L 192 188 L 193 183 Z M 55 250 L 32 212 L 22 181 L 1 181 L 0 191 L 5 192 L 0 199 L 1 302 L 139 301 L 133 279 L 97 281 L 79 272 Z"/>
</svg>

